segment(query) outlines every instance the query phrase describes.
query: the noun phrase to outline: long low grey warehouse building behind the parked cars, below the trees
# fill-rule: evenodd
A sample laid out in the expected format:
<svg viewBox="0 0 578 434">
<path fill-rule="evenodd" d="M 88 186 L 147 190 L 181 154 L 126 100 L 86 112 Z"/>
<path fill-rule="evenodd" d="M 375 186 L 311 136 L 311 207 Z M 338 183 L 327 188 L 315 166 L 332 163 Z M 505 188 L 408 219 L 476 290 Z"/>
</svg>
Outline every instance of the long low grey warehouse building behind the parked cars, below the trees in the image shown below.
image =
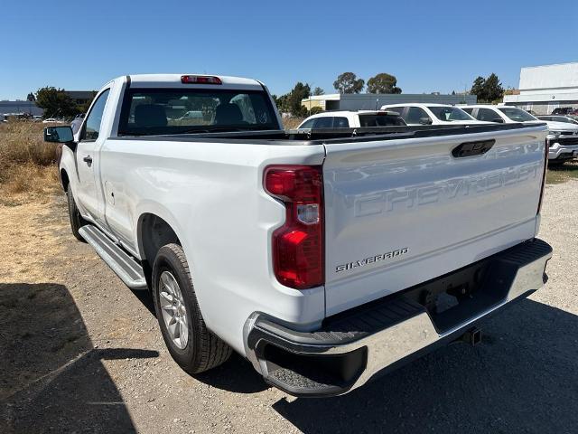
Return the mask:
<svg viewBox="0 0 578 434">
<path fill-rule="evenodd" d="M 332 93 L 329 95 L 314 95 L 303 99 L 301 104 L 311 110 L 319 107 L 323 110 L 375 110 L 387 104 L 401 104 L 408 102 L 434 104 L 475 104 L 475 95 L 443 95 L 440 93 Z"/>
</svg>

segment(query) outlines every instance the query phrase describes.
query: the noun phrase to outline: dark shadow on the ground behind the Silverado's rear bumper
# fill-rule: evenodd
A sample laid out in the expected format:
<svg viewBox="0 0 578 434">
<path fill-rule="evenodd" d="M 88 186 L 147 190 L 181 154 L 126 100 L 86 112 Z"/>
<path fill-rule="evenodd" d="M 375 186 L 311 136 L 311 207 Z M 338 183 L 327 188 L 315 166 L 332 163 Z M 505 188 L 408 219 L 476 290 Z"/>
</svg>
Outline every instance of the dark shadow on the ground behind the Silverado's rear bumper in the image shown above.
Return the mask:
<svg viewBox="0 0 578 434">
<path fill-rule="evenodd" d="M 273 408 L 304 432 L 575 432 L 578 316 L 525 299 L 483 330 L 348 395 Z"/>
</svg>

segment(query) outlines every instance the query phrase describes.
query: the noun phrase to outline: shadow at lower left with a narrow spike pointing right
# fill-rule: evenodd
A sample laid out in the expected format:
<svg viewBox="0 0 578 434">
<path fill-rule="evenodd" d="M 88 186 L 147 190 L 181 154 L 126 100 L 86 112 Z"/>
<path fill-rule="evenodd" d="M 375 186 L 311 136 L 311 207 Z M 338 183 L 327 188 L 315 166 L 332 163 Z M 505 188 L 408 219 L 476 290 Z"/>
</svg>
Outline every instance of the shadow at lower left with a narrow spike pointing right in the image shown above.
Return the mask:
<svg viewBox="0 0 578 434">
<path fill-rule="evenodd" d="M 0 432 L 135 432 L 103 360 L 156 351 L 98 349 L 68 289 L 0 284 Z"/>
</svg>

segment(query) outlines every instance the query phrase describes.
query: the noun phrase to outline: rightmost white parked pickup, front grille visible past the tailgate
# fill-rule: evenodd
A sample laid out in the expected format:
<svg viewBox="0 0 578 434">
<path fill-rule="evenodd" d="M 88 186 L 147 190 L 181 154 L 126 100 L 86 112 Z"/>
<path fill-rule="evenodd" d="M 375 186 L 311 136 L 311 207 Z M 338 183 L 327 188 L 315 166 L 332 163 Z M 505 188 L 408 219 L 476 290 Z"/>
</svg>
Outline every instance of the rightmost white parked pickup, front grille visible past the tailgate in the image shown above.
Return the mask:
<svg viewBox="0 0 578 434">
<path fill-rule="evenodd" d="M 511 106 L 475 105 L 463 106 L 474 118 L 497 123 L 536 124 L 541 120 L 526 110 Z M 545 120 L 548 127 L 548 160 L 550 165 L 563 165 L 578 156 L 578 125 L 568 122 Z"/>
</svg>

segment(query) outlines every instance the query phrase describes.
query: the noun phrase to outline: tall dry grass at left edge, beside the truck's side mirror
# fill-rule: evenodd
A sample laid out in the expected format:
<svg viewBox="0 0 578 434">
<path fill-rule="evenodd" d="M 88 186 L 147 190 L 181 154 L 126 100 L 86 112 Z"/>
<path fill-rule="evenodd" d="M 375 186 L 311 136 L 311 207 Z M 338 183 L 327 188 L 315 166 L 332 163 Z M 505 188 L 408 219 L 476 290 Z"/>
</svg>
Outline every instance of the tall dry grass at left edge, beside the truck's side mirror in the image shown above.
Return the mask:
<svg viewBox="0 0 578 434">
<path fill-rule="evenodd" d="M 40 123 L 0 124 L 0 204 L 18 205 L 58 189 L 55 147 L 42 139 Z"/>
</svg>

